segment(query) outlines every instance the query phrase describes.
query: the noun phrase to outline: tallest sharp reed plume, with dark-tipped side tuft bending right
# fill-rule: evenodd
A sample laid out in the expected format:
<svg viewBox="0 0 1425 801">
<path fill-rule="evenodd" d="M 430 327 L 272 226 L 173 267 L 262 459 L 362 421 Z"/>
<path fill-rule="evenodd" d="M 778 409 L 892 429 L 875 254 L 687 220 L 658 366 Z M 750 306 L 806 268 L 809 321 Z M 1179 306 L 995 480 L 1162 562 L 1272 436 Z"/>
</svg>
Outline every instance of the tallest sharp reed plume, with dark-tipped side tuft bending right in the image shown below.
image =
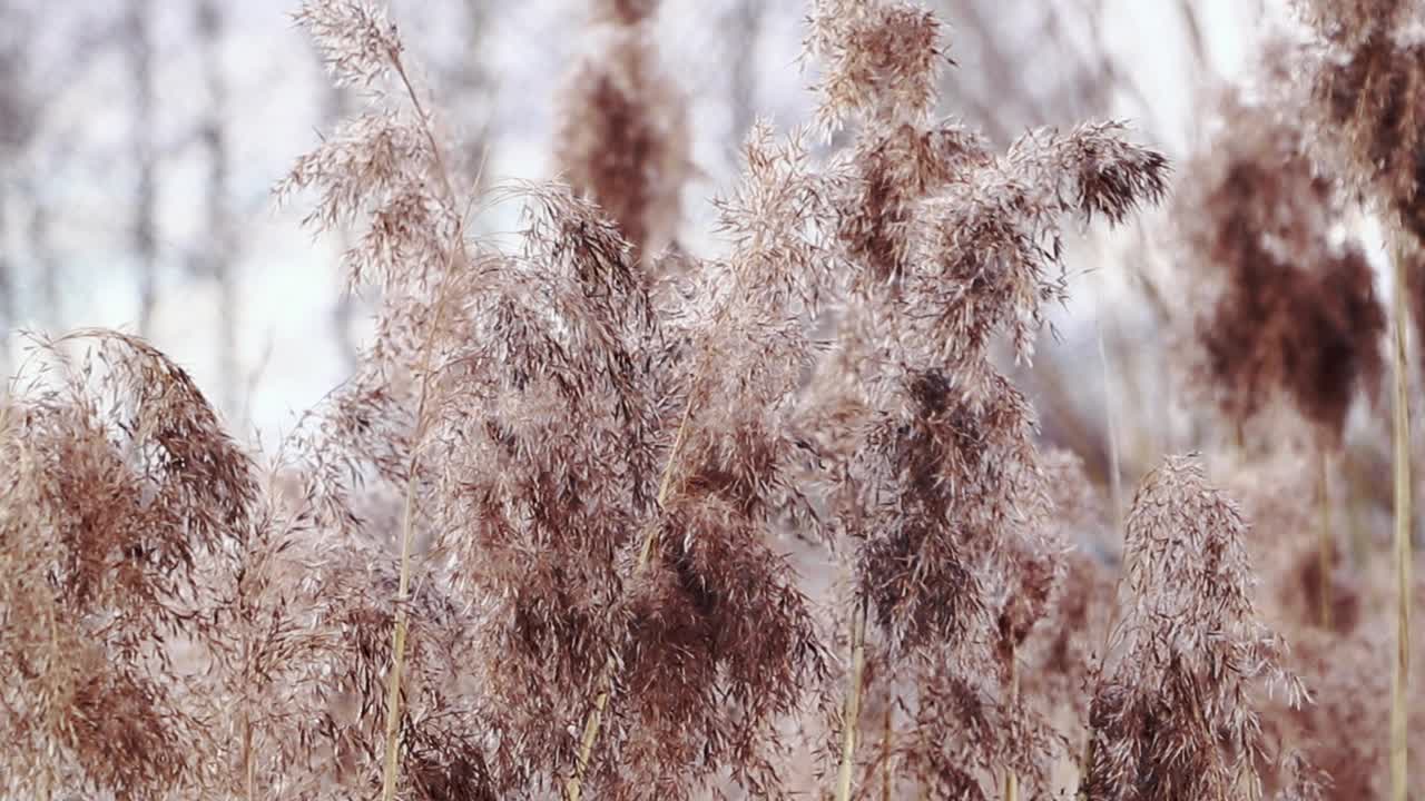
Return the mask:
<svg viewBox="0 0 1425 801">
<path fill-rule="evenodd" d="M 836 219 L 849 295 L 821 389 L 859 430 L 835 492 L 858 543 L 852 656 L 905 688 L 895 704 L 915 735 L 901 758 L 922 797 L 986 792 L 996 775 L 1009 797 L 1020 777 L 1042 792 L 1052 735 L 1020 697 L 1016 651 L 1052 603 L 1063 546 L 1029 399 L 990 345 L 1005 335 L 1032 356 L 1043 304 L 1066 292 L 1062 221 L 1124 219 L 1161 195 L 1166 161 L 1116 124 L 1030 131 L 996 154 L 932 123 L 945 56 L 938 20 L 912 3 L 818 3 L 808 51 L 826 63 L 818 118 L 856 124 Z M 855 784 L 866 674 L 834 715 L 838 798 Z"/>
</svg>

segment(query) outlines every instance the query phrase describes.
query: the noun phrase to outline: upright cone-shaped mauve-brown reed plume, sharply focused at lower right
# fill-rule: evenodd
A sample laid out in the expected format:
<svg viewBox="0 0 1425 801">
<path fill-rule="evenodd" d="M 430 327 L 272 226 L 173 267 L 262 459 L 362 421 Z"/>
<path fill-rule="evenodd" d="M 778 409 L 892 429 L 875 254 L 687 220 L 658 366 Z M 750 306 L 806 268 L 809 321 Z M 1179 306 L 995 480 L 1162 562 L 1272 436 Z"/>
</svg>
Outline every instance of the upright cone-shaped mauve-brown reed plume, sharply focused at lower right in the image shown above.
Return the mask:
<svg viewBox="0 0 1425 801">
<path fill-rule="evenodd" d="M 1261 798 L 1255 684 L 1305 697 L 1263 624 L 1237 506 L 1191 456 L 1143 479 L 1124 536 L 1126 606 L 1093 687 L 1087 798 Z"/>
</svg>

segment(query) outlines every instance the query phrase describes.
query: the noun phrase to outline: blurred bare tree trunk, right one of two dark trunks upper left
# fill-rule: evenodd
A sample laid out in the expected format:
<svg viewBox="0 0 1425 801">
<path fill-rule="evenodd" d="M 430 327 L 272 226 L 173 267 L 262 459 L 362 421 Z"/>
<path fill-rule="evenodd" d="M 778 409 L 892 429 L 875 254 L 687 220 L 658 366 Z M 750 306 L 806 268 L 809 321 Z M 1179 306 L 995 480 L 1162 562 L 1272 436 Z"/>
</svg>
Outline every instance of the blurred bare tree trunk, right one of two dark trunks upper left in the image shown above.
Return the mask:
<svg viewBox="0 0 1425 801">
<path fill-rule="evenodd" d="M 218 392 L 222 409 L 237 412 L 238 388 L 238 292 L 234 275 L 237 239 L 232 235 L 232 204 L 228 178 L 228 137 L 224 113 L 228 107 L 228 83 L 222 74 L 222 10 L 215 0 L 198 0 L 198 46 L 202 53 L 208 108 L 198 127 L 208 161 L 208 235 L 202 254 L 204 267 L 218 285 Z"/>
</svg>

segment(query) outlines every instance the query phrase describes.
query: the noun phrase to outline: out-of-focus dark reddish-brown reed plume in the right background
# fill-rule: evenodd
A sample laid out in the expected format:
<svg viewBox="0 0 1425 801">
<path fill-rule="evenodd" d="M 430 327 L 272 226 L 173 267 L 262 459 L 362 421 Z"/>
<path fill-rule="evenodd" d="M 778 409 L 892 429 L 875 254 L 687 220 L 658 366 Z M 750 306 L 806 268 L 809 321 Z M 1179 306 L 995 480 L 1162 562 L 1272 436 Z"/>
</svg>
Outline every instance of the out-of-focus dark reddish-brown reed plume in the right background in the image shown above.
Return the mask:
<svg viewBox="0 0 1425 801">
<path fill-rule="evenodd" d="M 1340 448 L 1351 400 L 1374 395 L 1385 366 L 1371 267 L 1358 242 L 1335 241 L 1342 192 L 1312 168 L 1301 130 L 1235 95 L 1221 115 L 1230 127 L 1176 200 L 1197 210 L 1178 217 L 1186 267 L 1206 289 L 1196 383 L 1233 425 L 1284 399 L 1322 448 Z"/>
</svg>

